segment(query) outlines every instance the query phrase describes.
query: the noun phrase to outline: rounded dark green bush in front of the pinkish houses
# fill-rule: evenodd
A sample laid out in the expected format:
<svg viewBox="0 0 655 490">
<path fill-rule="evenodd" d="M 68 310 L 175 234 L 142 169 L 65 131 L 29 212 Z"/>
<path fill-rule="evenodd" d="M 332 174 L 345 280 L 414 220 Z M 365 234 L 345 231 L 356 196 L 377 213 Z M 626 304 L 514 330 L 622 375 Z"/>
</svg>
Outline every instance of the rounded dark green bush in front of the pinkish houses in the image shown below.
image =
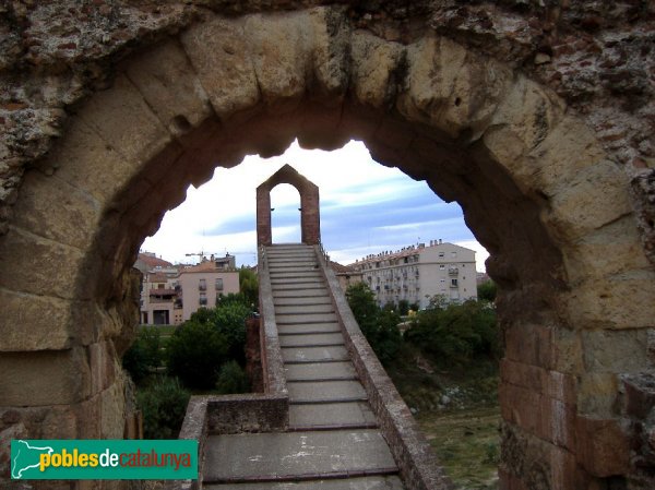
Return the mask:
<svg viewBox="0 0 655 490">
<path fill-rule="evenodd" d="M 199 316 L 180 325 L 166 348 L 168 372 L 186 386 L 209 390 L 214 386 L 221 364 L 227 359 L 228 340 L 212 323 Z"/>
</svg>

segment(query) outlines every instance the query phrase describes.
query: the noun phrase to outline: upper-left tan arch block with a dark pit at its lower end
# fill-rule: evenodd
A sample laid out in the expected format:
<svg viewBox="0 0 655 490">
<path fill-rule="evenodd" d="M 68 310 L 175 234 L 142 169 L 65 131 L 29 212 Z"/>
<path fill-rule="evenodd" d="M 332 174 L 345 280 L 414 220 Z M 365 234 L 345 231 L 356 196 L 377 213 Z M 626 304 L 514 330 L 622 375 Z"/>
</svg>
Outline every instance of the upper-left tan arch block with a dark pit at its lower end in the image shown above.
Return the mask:
<svg viewBox="0 0 655 490">
<path fill-rule="evenodd" d="M 213 116 L 209 96 L 177 40 L 130 59 L 124 67 L 159 121 L 181 135 Z"/>
</svg>

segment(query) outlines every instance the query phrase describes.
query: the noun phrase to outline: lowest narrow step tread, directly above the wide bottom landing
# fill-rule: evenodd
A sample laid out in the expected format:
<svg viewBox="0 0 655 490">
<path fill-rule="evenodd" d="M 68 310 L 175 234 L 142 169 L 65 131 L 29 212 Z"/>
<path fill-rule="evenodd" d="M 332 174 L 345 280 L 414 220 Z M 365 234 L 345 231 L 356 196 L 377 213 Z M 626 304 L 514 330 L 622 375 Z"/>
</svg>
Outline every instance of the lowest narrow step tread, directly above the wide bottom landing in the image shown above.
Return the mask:
<svg viewBox="0 0 655 490">
<path fill-rule="evenodd" d="M 329 428 L 335 426 L 367 426 L 377 423 L 366 402 L 305 404 L 289 406 L 289 428 Z"/>
</svg>

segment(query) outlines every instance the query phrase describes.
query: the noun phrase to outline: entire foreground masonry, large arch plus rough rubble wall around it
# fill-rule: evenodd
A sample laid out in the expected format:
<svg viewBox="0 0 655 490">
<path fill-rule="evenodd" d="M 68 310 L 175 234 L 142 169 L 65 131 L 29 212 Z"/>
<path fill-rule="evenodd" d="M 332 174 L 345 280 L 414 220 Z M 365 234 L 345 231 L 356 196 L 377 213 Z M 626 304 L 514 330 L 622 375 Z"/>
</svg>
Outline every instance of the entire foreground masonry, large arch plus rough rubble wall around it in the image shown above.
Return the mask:
<svg viewBox="0 0 655 490">
<path fill-rule="evenodd" d="M 655 488 L 653 9 L 3 3 L 0 485 L 12 438 L 130 435 L 130 266 L 190 183 L 357 139 L 491 253 L 501 487 Z"/>
</svg>

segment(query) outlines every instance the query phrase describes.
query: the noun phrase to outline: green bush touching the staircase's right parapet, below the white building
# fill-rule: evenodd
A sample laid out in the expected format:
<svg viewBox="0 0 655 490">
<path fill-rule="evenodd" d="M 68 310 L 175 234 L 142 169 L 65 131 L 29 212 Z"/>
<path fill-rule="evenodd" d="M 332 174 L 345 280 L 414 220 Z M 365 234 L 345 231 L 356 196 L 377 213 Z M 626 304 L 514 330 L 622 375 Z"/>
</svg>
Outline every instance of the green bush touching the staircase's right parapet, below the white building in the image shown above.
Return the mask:
<svg viewBox="0 0 655 490">
<path fill-rule="evenodd" d="M 397 327 L 401 316 L 394 311 L 395 307 L 392 303 L 381 310 L 376 304 L 373 291 L 364 283 L 348 286 L 346 298 L 378 359 L 388 364 L 396 356 L 403 342 Z"/>
</svg>

